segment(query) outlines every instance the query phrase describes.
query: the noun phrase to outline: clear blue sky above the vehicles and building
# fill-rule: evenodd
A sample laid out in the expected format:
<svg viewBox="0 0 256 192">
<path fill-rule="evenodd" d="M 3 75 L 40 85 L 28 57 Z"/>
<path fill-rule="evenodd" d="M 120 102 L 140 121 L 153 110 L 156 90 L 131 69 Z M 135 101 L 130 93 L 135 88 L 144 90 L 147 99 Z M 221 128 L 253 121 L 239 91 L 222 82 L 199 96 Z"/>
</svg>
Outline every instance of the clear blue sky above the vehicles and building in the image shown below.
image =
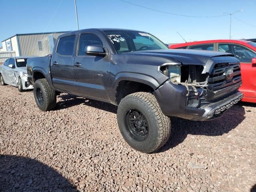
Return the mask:
<svg viewBox="0 0 256 192">
<path fill-rule="evenodd" d="M 255 0 L 126 0 L 164 12 L 190 16 L 232 13 L 256 26 Z M 61 2 L 61 4 L 60 4 Z M 230 16 L 189 18 L 144 9 L 120 0 L 76 0 L 79 27 L 128 28 L 150 32 L 166 43 L 228 39 Z M 18 33 L 76 30 L 74 0 L 1 1 L 0 41 Z M 58 9 L 57 9 L 58 8 Z M 55 13 L 55 14 L 54 14 Z M 256 27 L 232 18 L 232 38 L 256 38 Z"/>
</svg>

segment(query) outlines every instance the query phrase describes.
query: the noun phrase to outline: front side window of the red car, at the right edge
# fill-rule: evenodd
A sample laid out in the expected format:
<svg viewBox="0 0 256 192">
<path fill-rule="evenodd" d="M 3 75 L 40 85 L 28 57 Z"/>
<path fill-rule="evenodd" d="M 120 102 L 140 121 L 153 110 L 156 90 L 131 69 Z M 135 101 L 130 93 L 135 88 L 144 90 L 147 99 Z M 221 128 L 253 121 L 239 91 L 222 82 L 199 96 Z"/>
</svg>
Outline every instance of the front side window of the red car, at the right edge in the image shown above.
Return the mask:
<svg viewBox="0 0 256 192">
<path fill-rule="evenodd" d="M 252 58 L 256 57 L 255 52 L 252 52 L 243 46 L 233 45 L 233 49 L 235 57 L 238 58 L 240 62 L 251 63 Z"/>
</svg>

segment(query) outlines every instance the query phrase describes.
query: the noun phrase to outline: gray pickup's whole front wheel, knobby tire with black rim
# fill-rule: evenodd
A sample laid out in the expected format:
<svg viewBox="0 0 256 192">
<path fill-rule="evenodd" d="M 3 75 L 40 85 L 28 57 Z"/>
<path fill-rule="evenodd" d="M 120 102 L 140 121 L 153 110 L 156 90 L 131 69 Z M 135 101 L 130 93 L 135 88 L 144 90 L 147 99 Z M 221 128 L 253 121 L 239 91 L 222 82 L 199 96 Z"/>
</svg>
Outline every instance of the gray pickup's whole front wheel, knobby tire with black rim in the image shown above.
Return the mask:
<svg viewBox="0 0 256 192">
<path fill-rule="evenodd" d="M 151 93 L 137 92 L 123 98 L 117 120 L 124 140 L 140 152 L 158 150 L 170 136 L 170 118 L 162 113 Z"/>
</svg>

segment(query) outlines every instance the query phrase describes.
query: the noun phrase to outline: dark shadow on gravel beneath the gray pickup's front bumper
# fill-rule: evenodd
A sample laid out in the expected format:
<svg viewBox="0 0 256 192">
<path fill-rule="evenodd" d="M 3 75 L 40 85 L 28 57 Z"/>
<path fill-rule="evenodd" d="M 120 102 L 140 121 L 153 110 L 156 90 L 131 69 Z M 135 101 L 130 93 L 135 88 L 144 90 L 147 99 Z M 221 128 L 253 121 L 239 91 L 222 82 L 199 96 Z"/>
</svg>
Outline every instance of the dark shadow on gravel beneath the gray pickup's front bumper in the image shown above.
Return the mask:
<svg viewBox="0 0 256 192">
<path fill-rule="evenodd" d="M 245 110 L 242 104 L 236 104 L 227 110 L 222 117 L 205 122 L 194 122 L 180 118 L 172 118 L 172 130 L 169 140 L 157 151 L 164 152 L 182 143 L 188 134 L 221 136 L 236 128 L 245 119 Z"/>
</svg>

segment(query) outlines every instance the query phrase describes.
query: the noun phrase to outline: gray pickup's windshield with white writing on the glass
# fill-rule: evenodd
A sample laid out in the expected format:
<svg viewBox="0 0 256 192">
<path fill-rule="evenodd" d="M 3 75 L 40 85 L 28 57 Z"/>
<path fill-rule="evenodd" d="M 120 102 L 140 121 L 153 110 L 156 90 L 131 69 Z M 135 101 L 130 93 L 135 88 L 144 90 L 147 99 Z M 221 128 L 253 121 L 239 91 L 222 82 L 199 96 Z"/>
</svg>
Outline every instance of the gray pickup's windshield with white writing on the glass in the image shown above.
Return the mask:
<svg viewBox="0 0 256 192">
<path fill-rule="evenodd" d="M 168 49 L 168 47 L 158 38 L 145 32 L 106 30 L 104 33 L 118 53 Z"/>
</svg>

